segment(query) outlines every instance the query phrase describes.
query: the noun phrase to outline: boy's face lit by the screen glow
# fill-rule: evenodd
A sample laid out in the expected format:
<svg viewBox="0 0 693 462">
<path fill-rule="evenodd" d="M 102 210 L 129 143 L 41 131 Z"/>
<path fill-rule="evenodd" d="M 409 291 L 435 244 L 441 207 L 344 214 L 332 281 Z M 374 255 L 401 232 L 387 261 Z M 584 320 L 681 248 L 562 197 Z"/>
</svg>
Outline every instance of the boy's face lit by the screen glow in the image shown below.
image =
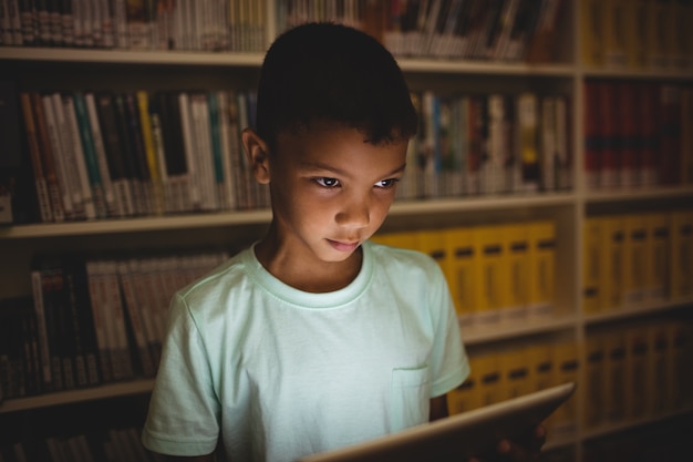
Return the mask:
<svg viewBox="0 0 693 462">
<path fill-rule="evenodd" d="M 407 142 L 373 145 L 321 123 L 281 133 L 277 146 L 268 176 L 279 242 L 300 261 L 346 260 L 385 219 Z"/>
</svg>

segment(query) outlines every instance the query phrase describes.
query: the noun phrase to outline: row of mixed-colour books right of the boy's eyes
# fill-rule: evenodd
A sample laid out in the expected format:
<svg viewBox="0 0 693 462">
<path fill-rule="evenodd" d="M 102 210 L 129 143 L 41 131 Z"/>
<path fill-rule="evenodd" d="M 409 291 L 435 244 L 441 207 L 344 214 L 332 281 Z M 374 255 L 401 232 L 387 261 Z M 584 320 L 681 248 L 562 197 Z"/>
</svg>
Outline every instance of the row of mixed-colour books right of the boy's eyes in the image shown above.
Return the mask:
<svg viewBox="0 0 693 462">
<path fill-rule="evenodd" d="M 572 188 L 569 99 L 560 94 L 413 92 L 420 129 L 397 197 Z"/>
</svg>

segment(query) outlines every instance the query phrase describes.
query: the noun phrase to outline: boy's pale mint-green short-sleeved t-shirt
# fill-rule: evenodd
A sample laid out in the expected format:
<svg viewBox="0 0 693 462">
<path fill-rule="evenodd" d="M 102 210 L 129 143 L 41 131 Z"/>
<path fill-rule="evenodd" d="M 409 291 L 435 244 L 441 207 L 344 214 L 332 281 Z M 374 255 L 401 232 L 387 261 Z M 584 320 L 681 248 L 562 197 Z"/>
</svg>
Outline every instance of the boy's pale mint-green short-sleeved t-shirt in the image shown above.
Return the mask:
<svg viewBox="0 0 693 462">
<path fill-rule="evenodd" d="M 426 422 L 468 374 L 445 279 L 424 254 L 362 247 L 333 292 L 281 283 L 252 248 L 177 292 L 145 446 L 293 461 Z"/>
</svg>

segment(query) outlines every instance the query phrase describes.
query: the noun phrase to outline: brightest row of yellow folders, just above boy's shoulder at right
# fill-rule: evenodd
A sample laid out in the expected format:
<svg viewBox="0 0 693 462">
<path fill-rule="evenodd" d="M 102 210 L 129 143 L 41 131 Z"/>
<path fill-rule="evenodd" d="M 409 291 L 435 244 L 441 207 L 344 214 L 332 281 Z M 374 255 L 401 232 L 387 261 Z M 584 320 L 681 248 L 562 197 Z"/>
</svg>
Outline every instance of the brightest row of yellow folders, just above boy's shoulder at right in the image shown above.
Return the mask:
<svg viewBox="0 0 693 462">
<path fill-rule="evenodd" d="M 554 309 L 551 220 L 387 233 L 373 240 L 435 258 L 463 328 L 545 317 Z"/>
</svg>

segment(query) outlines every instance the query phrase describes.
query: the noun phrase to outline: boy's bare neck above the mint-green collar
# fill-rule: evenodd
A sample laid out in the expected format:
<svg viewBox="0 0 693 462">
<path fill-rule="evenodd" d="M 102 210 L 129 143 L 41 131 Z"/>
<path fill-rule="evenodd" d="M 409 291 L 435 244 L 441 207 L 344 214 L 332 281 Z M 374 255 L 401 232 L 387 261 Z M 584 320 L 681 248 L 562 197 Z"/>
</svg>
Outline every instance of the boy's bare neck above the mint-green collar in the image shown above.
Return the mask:
<svg viewBox="0 0 693 462">
<path fill-rule="evenodd" d="M 262 267 L 277 279 L 296 289 L 324 294 L 351 284 L 363 260 L 363 249 L 358 248 L 343 261 L 306 261 L 293 257 L 286 245 L 271 233 L 255 246 L 255 255 Z"/>
</svg>

